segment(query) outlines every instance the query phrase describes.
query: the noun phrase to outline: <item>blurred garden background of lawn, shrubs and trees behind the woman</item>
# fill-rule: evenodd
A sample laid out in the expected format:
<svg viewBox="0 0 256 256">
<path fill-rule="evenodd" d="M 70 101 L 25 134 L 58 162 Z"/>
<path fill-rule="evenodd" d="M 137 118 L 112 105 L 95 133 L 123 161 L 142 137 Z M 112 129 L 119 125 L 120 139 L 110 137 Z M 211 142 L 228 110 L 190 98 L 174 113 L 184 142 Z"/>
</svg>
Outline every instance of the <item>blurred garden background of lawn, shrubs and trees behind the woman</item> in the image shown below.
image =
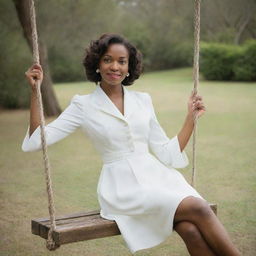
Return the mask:
<svg viewBox="0 0 256 256">
<path fill-rule="evenodd" d="M 193 87 L 193 1 L 35 1 L 40 42 L 60 112 L 74 94 L 87 94 L 85 48 L 105 32 L 121 33 L 144 57 L 144 74 L 129 90 L 149 92 L 168 136 L 180 129 Z M 0 0 L 0 255 L 130 255 L 121 236 L 62 246 L 48 252 L 30 232 L 47 216 L 41 152 L 24 153 L 32 56 L 17 13 L 27 0 Z M 218 216 L 242 255 L 255 254 L 256 18 L 253 0 L 203 0 L 201 83 L 207 113 L 200 119 L 197 189 L 218 204 Z M 20 12 L 24 13 L 24 12 Z M 57 112 L 58 112 L 57 111 Z M 58 114 L 48 113 L 47 122 Z M 187 147 L 191 159 L 191 145 Z M 57 214 L 99 208 L 101 159 L 77 131 L 49 148 Z M 62 159 L 65 159 L 63 161 Z M 180 170 L 190 180 L 191 165 Z M 136 255 L 187 255 L 174 233 Z"/>
</svg>

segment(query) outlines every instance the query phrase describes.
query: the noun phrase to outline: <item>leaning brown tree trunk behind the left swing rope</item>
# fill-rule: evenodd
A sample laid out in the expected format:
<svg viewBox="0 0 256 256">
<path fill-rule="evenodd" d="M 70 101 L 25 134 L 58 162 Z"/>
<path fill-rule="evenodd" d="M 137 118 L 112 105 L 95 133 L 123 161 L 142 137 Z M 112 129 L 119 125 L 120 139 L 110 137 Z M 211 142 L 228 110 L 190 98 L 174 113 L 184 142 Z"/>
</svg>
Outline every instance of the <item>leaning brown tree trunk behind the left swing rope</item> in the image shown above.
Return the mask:
<svg viewBox="0 0 256 256">
<path fill-rule="evenodd" d="M 13 2 L 23 29 L 24 37 L 26 38 L 27 43 L 32 51 L 29 0 L 13 0 Z M 40 62 L 44 70 L 44 80 L 41 86 L 44 113 L 46 116 L 56 116 L 61 113 L 61 109 L 52 86 L 52 79 L 48 65 L 47 47 L 39 35 L 38 38 Z"/>
</svg>

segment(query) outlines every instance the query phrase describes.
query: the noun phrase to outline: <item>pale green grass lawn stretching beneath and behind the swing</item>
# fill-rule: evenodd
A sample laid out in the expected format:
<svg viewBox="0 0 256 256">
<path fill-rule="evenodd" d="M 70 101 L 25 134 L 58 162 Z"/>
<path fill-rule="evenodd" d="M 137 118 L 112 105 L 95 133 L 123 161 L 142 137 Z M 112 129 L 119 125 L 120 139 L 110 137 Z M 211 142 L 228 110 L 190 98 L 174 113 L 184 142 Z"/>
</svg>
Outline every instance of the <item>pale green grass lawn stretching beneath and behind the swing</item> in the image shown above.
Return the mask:
<svg viewBox="0 0 256 256">
<path fill-rule="evenodd" d="M 148 73 L 129 90 L 152 95 L 159 122 L 172 137 L 182 126 L 192 89 L 192 70 Z M 74 94 L 94 90 L 92 83 L 57 84 L 62 108 Z M 256 251 L 256 83 L 201 81 L 207 113 L 197 139 L 197 190 L 218 204 L 218 216 L 242 255 Z M 30 220 L 48 216 L 41 152 L 24 153 L 21 143 L 27 110 L 0 112 L 0 255 L 128 256 L 121 236 L 64 245 L 48 252 L 30 232 Z M 50 121 L 50 120 L 47 120 Z M 186 149 L 191 158 L 191 143 Z M 102 162 L 80 130 L 49 148 L 57 215 L 99 208 L 96 186 Z M 181 170 L 190 180 L 191 165 Z M 184 256 L 186 248 L 173 233 L 162 244 L 136 256 Z"/>
</svg>

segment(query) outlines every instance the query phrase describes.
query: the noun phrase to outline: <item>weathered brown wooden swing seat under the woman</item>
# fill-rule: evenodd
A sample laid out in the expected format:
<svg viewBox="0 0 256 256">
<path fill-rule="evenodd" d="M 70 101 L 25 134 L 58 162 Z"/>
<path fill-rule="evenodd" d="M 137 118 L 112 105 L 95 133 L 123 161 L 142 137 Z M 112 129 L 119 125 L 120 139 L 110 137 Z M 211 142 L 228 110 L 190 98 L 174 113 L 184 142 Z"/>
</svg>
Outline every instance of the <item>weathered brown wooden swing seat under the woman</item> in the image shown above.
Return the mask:
<svg viewBox="0 0 256 256">
<path fill-rule="evenodd" d="M 217 205 L 209 205 L 217 214 Z M 47 239 L 50 219 L 34 219 L 31 221 L 31 228 L 32 234 Z M 116 222 L 101 218 L 99 210 L 56 217 L 56 231 L 53 231 L 53 239 L 59 246 L 115 235 L 120 235 Z"/>
</svg>

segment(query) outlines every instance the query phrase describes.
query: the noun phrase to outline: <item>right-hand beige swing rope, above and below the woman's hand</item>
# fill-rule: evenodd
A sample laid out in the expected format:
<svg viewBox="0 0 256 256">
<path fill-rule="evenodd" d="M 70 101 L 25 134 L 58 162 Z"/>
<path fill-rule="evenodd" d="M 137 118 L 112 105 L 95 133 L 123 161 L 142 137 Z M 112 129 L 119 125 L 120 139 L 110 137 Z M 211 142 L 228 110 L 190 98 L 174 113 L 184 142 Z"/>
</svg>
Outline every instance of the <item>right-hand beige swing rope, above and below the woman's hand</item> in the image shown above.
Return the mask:
<svg viewBox="0 0 256 256">
<path fill-rule="evenodd" d="M 193 94 L 197 94 L 199 86 L 199 50 L 200 50 L 200 2 L 195 0 L 194 10 L 194 64 L 193 78 L 194 89 Z M 196 185 L 196 134 L 197 134 L 197 116 L 194 117 L 193 143 L 192 143 L 192 180 L 191 185 Z"/>
</svg>

